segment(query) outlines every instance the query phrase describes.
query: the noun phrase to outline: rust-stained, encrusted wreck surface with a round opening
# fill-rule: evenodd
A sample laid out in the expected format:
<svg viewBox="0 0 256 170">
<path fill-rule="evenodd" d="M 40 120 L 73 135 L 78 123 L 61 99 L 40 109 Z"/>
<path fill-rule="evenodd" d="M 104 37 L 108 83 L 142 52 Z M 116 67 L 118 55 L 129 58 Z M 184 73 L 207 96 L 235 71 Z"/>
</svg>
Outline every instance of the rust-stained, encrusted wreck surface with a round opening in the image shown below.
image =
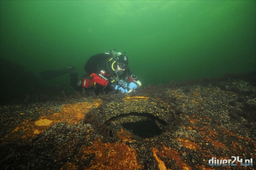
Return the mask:
<svg viewBox="0 0 256 170">
<path fill-rule="evenodd" d="M 242 79 L 148 86 L 1 106 L 1 169 L 254 169 L 256 87 Z M 247 167 L 210 166 L 239 156 Z M 232 159 L 234 160 L 234 159 Z"/>
</svg>

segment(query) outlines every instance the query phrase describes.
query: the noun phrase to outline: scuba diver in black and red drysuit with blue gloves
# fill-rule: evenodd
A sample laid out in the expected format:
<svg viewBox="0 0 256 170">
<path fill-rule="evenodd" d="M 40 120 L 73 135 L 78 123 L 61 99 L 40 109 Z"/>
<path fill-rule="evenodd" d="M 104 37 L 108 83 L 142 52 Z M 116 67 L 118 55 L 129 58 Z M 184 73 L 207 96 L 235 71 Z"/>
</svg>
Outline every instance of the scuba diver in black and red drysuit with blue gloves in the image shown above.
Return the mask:
<svg viewBox="0 0 256 170">
<path fill-rule="evenodd" d="M 125 52 L 122 54 L 116 52 L 116 49 L 91 56 L 84 70 L 90 78 L 78 81 L 77 73 L 70 74 L 70 82 L 74 90 L 96 88 L 98 92 L 119 90 L 122 93 L 128 93 L 141 86 L 140 80 L 128 68 L 128 57 Z"/>
</svg>

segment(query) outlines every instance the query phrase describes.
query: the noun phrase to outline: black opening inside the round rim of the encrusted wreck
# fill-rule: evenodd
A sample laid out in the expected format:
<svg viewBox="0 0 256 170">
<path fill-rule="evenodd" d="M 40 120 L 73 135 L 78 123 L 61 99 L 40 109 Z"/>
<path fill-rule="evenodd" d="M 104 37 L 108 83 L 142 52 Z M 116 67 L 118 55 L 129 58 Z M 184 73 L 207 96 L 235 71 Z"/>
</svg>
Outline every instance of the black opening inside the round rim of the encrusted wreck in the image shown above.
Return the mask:
<svg viewBox="0 0 256 170">
<path fill-rule="evenodd" d="M 151 138 L 162 134 L 162 130 L 152 120 L 128 122 L 122 126 L 141 138 Z"/>
</svg>

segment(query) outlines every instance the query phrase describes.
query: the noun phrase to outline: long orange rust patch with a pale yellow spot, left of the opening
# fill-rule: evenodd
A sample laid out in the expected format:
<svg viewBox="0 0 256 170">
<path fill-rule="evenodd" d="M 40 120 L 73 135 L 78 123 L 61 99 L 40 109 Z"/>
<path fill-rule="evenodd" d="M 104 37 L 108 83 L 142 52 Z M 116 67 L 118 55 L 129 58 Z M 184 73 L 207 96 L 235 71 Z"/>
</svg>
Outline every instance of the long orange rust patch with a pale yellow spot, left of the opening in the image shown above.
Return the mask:
<svg viewBox="0 0 256 170">
<path fill-rule="evenodd" d="M 84 119 L 84 116 L 92 107 L 98 107 L 102 104 L 101 100 L 95 100 L 88 103 L 65 104 L 60 112 L 41 116 L 36 121 L 26 120 L 14 127 L 11 134 L 7 134 L 1 140 L 14 140 L 20 138 L 33 137 L 44 132 L 48 126 L 52 126 L 58 122 L 66 122 L 67 124 L 78 124 Z M 7 142 L 7 141 L 6 141 Z"/>
</svg>

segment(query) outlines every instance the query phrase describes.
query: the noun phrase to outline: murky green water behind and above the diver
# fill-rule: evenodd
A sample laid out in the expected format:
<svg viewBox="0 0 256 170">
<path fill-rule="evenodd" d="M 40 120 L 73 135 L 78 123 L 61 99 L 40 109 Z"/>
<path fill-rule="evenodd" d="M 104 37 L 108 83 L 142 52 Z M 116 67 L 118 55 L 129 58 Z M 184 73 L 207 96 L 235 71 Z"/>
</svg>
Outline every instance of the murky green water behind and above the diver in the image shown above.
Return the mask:
<svg viewBox="0 0 256 170">
<path fill-rule="evenodd" d="M 256 70 L 256 1 L 0 1 L 1 59 L 40 71 L 116 48 L 145 84 Z M 68 84 L 68 75 L 47 83 Z"/>
</svg>

